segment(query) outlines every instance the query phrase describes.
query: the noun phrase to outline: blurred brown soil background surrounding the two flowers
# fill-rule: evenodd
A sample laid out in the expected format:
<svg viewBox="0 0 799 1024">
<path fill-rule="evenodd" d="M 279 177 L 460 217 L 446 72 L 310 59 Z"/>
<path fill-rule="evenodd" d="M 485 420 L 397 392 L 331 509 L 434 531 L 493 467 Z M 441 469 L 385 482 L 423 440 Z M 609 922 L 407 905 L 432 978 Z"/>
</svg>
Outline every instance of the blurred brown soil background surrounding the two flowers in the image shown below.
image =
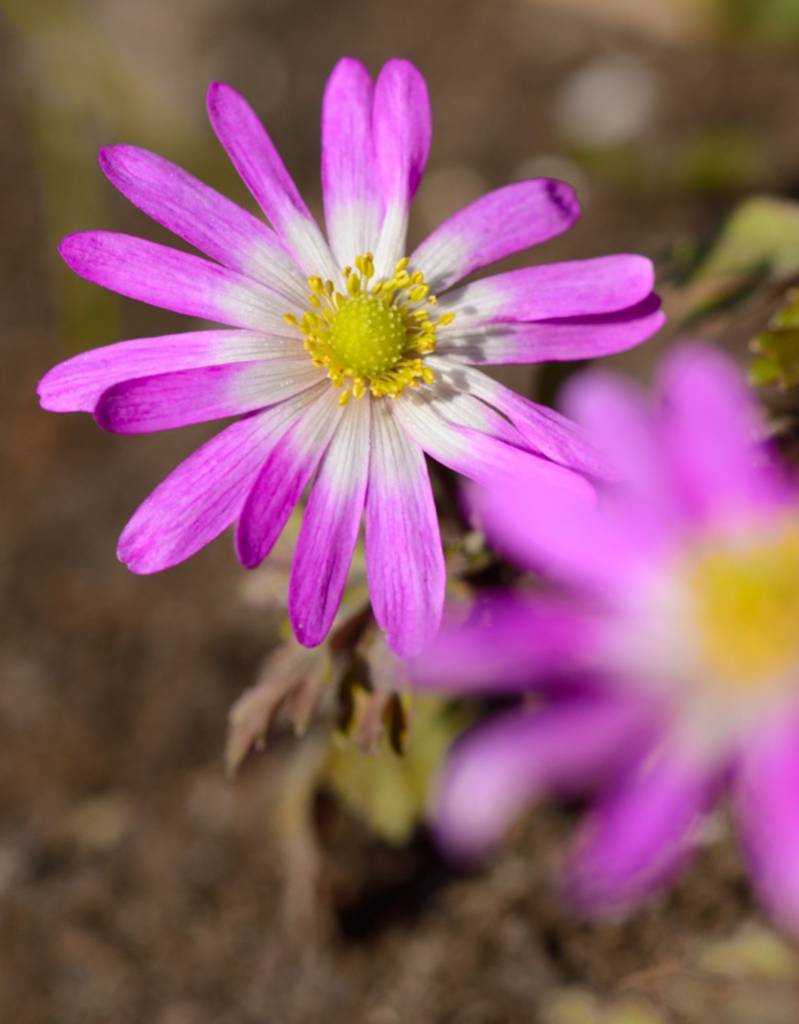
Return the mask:
<svg viewBox="0 0 799 1024">
<path fill-rule="evenodd" d="M 672 315 L 613 362 L 645 377 L 682 331 L 750 366 L 759 336 L 766 383 L 799 369 L 766 331 L 799 271 L 799 0 L 0 0 L 0 1020 L 795 1024 L 799 959 L 723 818 L 674 891 L 597 925 L 552 883 L 569 808 L 467 878 L 423 830 L 388 842 L 316 794 L 312 731 L 278 730 L 228 782 L 228 708 L 282 628 L 268 575 L 229 539 L 156 578 L 115 557 L 210 431 L 118 438 L 37 407 L 67 355 L 187 327 L 60 265 L 68 231 L 166 241 L 97 148 L 155 150 L 249 204 L 205 118 L 221 78 L 319 211 L 343 54 L 427 76 L 416 238 L 489 188 L 565 178 L 583 220 L 534 258 L 643 252 Z M 561 377 L 503 375 L 547 399 Z"/>
</svg>

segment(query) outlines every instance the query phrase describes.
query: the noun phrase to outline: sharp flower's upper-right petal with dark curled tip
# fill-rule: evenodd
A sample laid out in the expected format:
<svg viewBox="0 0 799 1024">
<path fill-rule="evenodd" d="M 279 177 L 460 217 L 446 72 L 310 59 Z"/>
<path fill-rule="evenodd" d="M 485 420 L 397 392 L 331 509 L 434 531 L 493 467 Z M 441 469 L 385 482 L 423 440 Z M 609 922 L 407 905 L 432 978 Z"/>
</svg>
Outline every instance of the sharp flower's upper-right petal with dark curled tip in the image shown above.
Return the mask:
<svg viewBox="0 0 799 1024">
<path fill-rule="evenodd" d="M 414 252 L 411 266 L 438 293 L 473 270 L 567 231 L 579 216 L 571 185 L 554 178 L 518 181 L 453 214 Z"/>
</svg>

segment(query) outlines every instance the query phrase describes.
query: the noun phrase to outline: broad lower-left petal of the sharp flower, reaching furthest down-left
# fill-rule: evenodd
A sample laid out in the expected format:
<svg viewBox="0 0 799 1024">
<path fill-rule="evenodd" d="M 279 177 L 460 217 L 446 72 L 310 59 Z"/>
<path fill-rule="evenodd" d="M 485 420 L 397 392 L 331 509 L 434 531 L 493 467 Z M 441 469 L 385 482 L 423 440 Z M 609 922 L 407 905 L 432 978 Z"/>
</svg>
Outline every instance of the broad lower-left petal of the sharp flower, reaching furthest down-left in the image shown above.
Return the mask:
<svg viewBox="0 0 799 1024">
<path fill-rule="evenodd" d="M 193 453 L 133 514 L 120 561 L 158 572 L 210 544 L 236 520 L 276 437 L 306 401 L 301 395 L 239 420 Z"/>
</svg>

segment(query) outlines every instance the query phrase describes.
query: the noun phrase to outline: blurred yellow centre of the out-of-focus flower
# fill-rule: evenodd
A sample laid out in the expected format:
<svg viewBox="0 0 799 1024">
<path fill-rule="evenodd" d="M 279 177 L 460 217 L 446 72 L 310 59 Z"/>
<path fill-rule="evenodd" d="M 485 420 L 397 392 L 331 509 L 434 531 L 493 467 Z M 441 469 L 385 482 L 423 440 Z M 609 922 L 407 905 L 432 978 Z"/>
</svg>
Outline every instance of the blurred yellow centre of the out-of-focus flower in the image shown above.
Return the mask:
<svg viewBox="0 0 799 1024">
<path fill-rule="evenodd" d="M 799 666 L 799 522 L 754 543 L 706 550 L 690 590 L 715 676 L 751 688 Z"/>
</svg>

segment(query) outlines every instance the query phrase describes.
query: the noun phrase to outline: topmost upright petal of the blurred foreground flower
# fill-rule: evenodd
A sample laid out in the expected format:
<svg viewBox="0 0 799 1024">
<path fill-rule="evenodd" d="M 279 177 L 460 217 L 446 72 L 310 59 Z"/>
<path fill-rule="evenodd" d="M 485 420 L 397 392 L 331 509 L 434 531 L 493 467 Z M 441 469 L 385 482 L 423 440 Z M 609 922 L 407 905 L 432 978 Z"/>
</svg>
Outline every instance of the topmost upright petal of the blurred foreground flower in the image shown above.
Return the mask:
<svg viewBox="0 0 799 1024">
<path fill-rule="evenodd" d="M 663 365 L 661 391 L 672 475 L 691 514 L 739 519 L 785 499 L 776 470 L 756 447 L 757 412 L 731 359 L 683 345 Z"/>
</svg>

